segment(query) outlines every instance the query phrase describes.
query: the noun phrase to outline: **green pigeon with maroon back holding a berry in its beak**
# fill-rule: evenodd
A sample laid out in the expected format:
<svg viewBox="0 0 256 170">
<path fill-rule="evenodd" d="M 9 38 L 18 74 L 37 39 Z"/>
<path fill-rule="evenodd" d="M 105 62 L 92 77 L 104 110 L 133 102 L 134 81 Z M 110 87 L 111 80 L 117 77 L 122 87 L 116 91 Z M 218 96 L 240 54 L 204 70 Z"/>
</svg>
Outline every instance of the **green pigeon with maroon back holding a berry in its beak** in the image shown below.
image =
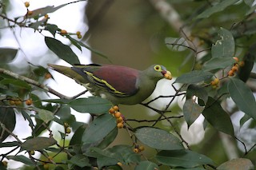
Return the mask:
<svg viewBox="0 0 256 170">
<path fill-rule="evenodd" d="M 120 65 L 48 65 L 84 85 L 94 96 L 111 101 L 113 105 L 139 104 L 150 97 L 160 79 L 172 78 L 162 65 L 151 65 L 143 71 Z"/>
</svg>

